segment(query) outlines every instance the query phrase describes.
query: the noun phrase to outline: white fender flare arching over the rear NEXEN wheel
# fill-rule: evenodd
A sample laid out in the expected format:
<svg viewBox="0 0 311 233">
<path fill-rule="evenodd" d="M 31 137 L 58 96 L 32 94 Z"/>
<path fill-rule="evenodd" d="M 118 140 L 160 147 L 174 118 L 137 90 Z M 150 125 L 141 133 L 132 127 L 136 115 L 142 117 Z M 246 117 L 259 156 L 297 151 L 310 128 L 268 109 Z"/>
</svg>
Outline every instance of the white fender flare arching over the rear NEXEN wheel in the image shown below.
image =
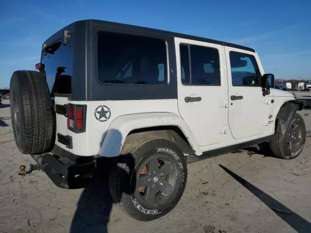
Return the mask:
<svg viewBox="0 0 311 233">
<path fill-rule="evenodd" d="M 157 135 L 174 141 L 184 153 L 201 155 L 189 126 L 174 113 L 131 114 L 115 118 L 105 133 L 99 156 L 119 156 L 124 142 L 143 135 Z"/>
</svg>

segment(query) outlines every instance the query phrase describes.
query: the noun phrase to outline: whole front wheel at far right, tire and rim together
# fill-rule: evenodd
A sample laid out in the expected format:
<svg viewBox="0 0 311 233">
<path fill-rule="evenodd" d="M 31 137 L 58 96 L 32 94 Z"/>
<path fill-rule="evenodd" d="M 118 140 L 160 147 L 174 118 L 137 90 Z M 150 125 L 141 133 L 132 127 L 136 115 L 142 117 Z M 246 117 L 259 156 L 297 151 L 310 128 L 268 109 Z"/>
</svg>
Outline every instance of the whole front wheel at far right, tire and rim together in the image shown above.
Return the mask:
<svg viewBox="0 0 311 233">
<path fill-rule="evenodd" d="M 306 126 L 303 118 L 295 114 L 285 134 L 275 133 L 274 138 L 269 142 L 270 149 L 279 158 L 296 158 L 305 145 Z"/>
</svg>

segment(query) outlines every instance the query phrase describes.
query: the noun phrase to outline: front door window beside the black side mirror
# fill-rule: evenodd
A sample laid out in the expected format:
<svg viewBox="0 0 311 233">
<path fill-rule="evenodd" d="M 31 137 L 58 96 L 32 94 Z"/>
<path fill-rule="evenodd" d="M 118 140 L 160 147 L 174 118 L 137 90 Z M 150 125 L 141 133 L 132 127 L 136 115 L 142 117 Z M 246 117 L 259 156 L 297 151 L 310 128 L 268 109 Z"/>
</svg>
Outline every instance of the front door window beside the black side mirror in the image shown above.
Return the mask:
<svg viewBox="0 0 311 233">
<path fill-rule="evenodd" d="M 233 86 L 260 86 L 260 72 L 252 55 L 230 52 Z"/>
</svg>

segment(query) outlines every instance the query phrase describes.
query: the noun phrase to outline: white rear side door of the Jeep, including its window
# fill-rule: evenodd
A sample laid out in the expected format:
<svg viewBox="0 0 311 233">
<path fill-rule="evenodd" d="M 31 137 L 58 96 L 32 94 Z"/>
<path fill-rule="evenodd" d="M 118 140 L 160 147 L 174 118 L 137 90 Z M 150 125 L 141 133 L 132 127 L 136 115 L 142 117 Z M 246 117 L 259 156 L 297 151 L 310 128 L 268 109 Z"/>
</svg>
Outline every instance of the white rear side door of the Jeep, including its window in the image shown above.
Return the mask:
<svg viewBox="0 0 311 233">
<path fill-rule="evenodd" d="M 227 133 L 225 58 L 222 45 L 175 38 L 178 110 L 199 146 Z"/>
</svg>

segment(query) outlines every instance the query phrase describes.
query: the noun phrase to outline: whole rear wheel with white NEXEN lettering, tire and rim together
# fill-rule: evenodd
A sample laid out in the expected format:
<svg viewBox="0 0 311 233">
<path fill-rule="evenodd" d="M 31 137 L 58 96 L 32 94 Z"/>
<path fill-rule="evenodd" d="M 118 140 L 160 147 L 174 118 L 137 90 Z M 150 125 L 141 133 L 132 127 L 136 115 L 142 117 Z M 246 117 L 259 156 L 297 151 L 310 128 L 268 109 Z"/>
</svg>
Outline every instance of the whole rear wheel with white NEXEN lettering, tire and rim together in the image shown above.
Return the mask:
<svg viewBox="0 0 311 233">
<path fill-rule="evenodd" d="M 109 189 L 125 213 L 150 221 L 174 208 L 186 182 L 187 164 L 179 147 L 164 138 L 144 136 L 124 143 Z"/>
</svg>

